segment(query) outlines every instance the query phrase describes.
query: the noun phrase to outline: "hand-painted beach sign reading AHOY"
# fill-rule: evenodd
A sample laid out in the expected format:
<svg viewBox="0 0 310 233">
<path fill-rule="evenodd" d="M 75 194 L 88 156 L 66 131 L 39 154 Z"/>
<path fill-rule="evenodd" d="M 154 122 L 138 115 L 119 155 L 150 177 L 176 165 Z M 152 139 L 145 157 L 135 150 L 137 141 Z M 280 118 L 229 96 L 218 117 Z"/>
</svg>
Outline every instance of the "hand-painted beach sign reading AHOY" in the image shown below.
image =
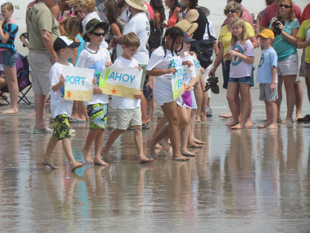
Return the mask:
<svg viewBox="0 0 310 233">
<path fill-rule="evenodd" d="M 135 99 L 134 94 L 140 93 L 142 69 L 112 65 L 104 67 L 99 80 L 102 93 Z"/>
</svg>

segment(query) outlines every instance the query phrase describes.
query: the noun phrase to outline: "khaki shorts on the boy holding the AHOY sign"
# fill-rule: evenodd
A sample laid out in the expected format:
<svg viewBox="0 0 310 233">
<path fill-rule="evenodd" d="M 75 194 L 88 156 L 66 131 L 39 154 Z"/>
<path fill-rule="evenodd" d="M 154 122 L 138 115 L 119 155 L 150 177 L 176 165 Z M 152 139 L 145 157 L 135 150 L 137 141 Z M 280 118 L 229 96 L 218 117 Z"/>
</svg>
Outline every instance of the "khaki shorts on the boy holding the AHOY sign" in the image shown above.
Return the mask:
<svg viewBox="0 0 310 233">
<path fill-rule="evenodd" d="M 116 128 L 120 130 L 126 130 L 132 125 L 142 125 L 141 108 L 117 109 L 116 122 Z"/>
</svg>

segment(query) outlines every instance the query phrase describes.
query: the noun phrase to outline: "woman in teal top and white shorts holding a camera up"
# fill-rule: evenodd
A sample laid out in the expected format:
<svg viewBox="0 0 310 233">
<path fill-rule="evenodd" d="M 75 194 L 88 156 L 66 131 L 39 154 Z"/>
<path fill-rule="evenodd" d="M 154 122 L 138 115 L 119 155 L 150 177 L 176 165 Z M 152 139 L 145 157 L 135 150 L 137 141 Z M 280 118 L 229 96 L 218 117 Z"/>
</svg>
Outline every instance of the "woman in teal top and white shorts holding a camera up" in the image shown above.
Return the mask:
<svg viewBox="0 0 310 233">
<path fill-rule="evenodd" d="M 278 119 L 280 119 L 280 105 L 282 100 L 282 83 L 284 82 L 286 92 L 287 115 L 281 123 L 294 122 L 293 111 L 295 104 L 294 82 L 298 72 L 297 54 L 297 32 L 299 29 L 298 19 L 294 14 L 294 6 L 291 0 L 280 0 L 277 15 L 282 17 L 284 25 L 274 17 L 271 20 L 270 28 L 275 29 L 274 23 L 279 24 L 279 35 L 275 36 L 272 47 L 278 55 Z M 299 82 L 300 83 L 300 82 Z"/>
</svg>

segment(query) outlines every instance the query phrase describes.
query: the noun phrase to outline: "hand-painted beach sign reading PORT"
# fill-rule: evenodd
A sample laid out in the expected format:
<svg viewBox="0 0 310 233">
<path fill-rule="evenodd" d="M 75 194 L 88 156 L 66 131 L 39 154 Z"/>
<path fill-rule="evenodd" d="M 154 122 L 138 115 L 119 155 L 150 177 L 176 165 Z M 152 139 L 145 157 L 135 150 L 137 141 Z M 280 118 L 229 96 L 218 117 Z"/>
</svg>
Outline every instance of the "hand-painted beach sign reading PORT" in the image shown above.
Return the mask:
<svg viewBox="0 0 310 233">
<path fill-rule="evenodd" d="M 94 69 L 63 67 L 64 99 L 92 101 Z"/>
</svg>

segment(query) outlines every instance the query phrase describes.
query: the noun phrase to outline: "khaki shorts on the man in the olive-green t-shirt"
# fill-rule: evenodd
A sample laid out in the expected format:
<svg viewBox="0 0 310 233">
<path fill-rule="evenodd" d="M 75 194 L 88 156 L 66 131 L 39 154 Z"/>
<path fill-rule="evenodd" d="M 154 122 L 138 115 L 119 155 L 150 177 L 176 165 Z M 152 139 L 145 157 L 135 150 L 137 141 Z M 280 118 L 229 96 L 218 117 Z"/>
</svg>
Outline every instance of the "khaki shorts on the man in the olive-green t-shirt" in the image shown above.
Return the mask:
<svg viewBox="0 0 310 233">
<path fill-rule="evenodd" d="M 40 51 L 43 52 L 43 51 Z M 49 95 L 49 70 L 53 66 L 51 56 L 29 51 L 28 62 L 31 67 L 31 83 L 34 94 Z"/>
</svg>

